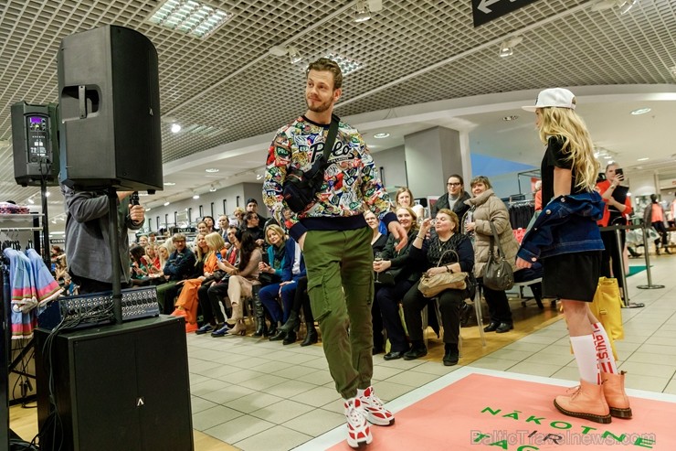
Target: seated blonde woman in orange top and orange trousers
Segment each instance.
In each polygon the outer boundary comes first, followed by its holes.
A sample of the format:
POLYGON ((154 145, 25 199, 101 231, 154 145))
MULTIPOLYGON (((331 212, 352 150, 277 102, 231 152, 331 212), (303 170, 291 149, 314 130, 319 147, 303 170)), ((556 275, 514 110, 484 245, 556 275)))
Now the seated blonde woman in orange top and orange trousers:
POLYGON ((186 332, 197 330, 197 307, 199 306, 197 292, 202 289, 203 282, 207 281, 208 285, 217 277, 215 275, 218 269, 217 253, 220 254, 224 247, 223 239, 217 232, 206 236, 201 233, 197 234, 197 262, 203 262, 203 271, 198 277, 183 281, 181 294, 176 300, 176 309, 172 313, 174 317, 185 317, 186 332))

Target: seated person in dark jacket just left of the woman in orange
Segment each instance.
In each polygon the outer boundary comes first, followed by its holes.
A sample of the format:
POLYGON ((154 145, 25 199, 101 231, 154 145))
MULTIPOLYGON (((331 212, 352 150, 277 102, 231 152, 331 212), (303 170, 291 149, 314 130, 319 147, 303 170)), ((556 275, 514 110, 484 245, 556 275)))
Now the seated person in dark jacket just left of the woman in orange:
POLYGON ((178 293, 176 283, 190 278, 195 271, 196 262, 195 253, 187 248, 183 233, 175 233, 172 237, 172 244, 175 250, 163 268, 164 275, 169 282, 157 287, 157 302, 166 315, 174 311, 174 297, 178 293))

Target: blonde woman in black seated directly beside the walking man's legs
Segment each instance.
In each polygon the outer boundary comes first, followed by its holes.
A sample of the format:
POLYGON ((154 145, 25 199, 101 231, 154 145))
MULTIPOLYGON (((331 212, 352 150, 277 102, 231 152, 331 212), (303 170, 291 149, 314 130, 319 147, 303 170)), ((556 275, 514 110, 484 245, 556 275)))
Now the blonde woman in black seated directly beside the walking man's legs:
MULTIPOLYGON (((375 304, 379 307, 387 338, 392 345, 390 351, 383 357, 385 360, 401 359, 409 349, 406 331, 399 317, 399 301, 421 275, 421 271, 414 271, 413 265, 408 261, 408 252, 418 231, 416 213, 410 207, 399 207, 396 209, 396 219, 407 231, 406 246, 396 251, 398 242, 390 235, 381 253, 382 260, 374 262, 375 274, 378 280, 383 282, 375 284, 375 304)), ((376 333, 374 329, 374 337, 376 333)))

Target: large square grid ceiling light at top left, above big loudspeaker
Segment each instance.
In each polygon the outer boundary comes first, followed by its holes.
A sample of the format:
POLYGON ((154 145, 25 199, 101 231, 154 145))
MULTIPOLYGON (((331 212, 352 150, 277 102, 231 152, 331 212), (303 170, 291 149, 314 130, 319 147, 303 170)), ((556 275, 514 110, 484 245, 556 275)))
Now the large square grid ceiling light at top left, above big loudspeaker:
POLYGON ((166 0, 148 21, 186 35, 206 38, 232 16, 226 11, 195 0, 166 0))

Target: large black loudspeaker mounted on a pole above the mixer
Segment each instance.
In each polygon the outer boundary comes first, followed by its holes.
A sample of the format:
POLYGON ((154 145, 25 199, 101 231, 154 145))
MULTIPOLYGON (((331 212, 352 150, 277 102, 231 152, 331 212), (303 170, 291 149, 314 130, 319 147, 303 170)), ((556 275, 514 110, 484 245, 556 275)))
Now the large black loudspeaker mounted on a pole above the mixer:
POLYGON ((163 188, 157 50, 130 28, 67 36, 58 52, 60 179, 70 188, 163 188))

